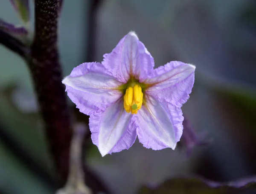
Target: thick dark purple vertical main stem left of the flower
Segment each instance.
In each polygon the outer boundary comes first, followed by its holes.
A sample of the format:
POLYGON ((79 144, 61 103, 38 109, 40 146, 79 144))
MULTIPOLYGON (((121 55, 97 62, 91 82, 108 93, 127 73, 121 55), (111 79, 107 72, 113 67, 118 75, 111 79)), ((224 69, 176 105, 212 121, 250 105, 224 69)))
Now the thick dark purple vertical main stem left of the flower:
POLYGON ((35 0, 35 38, 29 68, 49 148, 63 180, 69 169, 71 124, 57 49, 58 0, 35 0))

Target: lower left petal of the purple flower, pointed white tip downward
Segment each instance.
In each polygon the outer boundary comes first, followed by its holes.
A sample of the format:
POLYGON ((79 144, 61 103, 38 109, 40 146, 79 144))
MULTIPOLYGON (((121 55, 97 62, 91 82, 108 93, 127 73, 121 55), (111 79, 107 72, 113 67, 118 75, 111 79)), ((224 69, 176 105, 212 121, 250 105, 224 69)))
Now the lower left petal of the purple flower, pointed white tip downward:
POLYGON ((98 146, 102 157, 132 146, 136 139, 132 117, 132 114, 124 110, 122 99, 111 104, 105 112, 99 111, 90 115, 92 141, 98 146))

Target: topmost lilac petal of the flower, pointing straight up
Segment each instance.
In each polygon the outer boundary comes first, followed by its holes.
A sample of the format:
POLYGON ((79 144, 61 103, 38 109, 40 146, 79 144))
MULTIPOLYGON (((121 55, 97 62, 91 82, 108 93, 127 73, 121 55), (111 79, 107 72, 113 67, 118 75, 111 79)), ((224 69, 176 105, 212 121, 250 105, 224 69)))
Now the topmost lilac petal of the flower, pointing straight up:
POLYGON ((154 59, 134 32, 123 37, 111 53, 104 55, 102 65, 120 82, 126 83, 131 76, 143 81, 153 70, 154 59))

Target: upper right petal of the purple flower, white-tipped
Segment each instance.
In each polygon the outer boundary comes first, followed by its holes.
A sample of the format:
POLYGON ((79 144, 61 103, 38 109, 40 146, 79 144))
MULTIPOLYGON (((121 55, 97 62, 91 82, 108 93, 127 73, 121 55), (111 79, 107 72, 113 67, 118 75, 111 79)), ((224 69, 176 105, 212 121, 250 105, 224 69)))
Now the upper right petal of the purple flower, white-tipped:
POLYGON ((151 85, 147 94, 181 107, 189 99, 194 81, 194 65, 173 61, 154 69, 144 83, 151 85))

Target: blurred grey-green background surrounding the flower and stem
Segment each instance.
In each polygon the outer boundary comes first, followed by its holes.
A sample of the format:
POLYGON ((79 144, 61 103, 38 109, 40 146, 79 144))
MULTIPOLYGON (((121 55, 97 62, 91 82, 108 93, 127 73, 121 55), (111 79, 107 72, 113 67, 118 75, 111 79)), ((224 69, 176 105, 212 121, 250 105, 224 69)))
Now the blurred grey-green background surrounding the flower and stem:
MULTIPOLYGON (((20 24, 8 0, 0 2, 0 18, 20 24)), ((188 156, 184 142, 174 151, 153 151, 136 141, 129 150, 101 157, 89 137, 88 168, 113 194, 134 194, 187 174, 216 181, 256 174, 256 1, 64 0, 64 76, 82 62, 101 62, 129 31, 156 67, 173 60, 196 65, 195 86, 182 110, 197 141, 208 144, 196 145, 188 156)), ((2 45, 0 67, 0 194, 53 193, 46 174, 55 174, 28 68, 2 45)))

